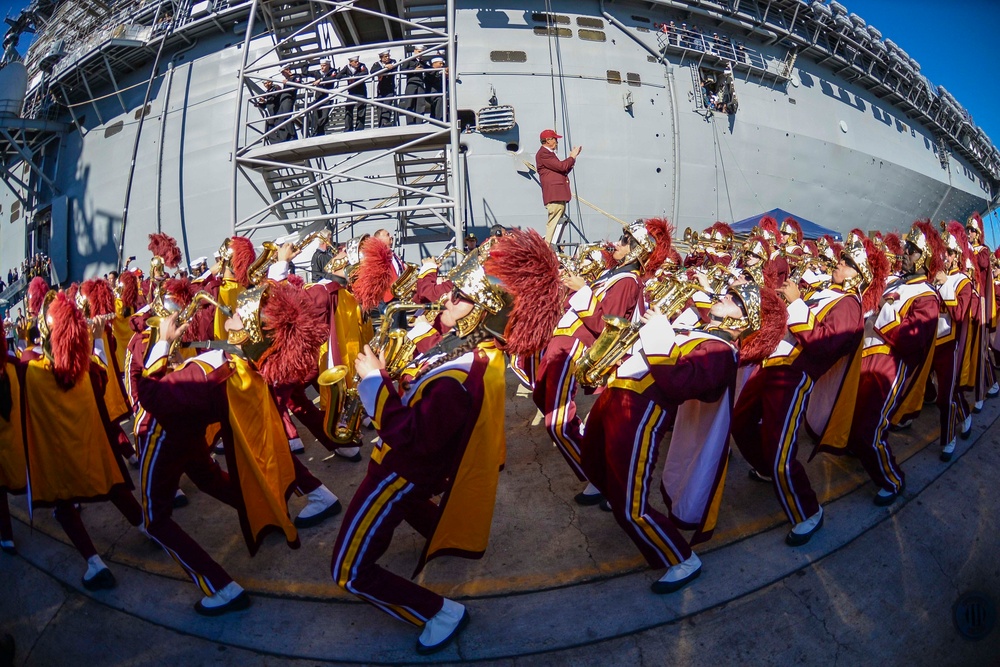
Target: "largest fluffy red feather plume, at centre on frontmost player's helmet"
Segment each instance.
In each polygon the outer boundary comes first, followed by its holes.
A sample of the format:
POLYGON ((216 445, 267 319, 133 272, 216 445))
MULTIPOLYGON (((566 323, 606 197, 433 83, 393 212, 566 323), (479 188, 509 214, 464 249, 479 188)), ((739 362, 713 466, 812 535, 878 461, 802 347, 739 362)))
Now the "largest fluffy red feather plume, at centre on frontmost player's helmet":
POLYGON ((493 246, 484 268, 514 295, 504 350, 518 355, 541 351, 563 314, 564 288, 552 248, 533 229, 512 230, 493 246))

